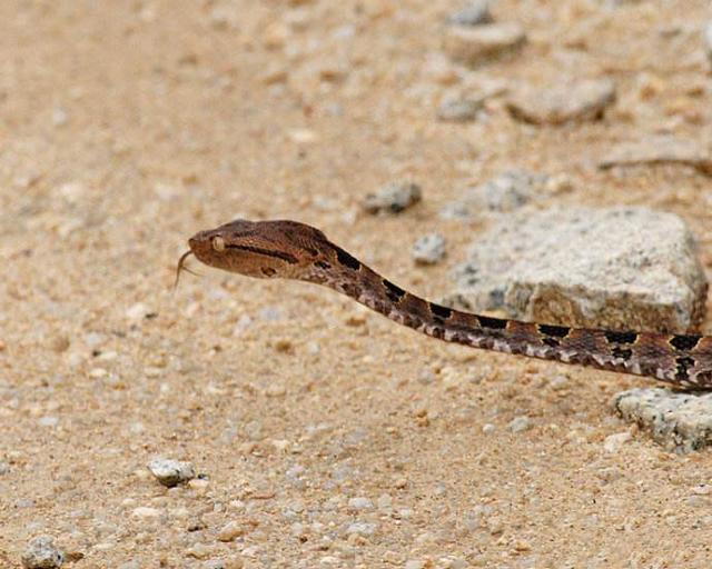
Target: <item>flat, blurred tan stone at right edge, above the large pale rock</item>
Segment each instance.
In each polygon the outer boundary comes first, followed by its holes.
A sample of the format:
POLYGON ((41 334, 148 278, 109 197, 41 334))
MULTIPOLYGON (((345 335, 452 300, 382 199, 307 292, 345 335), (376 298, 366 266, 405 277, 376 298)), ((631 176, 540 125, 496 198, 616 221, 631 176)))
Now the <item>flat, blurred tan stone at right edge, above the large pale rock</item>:
POLYGON ((679 139, 665 134, 646 137, 640 141, 622 142, 599 162, 599 168, 680 164, 712 176, 712 154, 698 140, 679 139))

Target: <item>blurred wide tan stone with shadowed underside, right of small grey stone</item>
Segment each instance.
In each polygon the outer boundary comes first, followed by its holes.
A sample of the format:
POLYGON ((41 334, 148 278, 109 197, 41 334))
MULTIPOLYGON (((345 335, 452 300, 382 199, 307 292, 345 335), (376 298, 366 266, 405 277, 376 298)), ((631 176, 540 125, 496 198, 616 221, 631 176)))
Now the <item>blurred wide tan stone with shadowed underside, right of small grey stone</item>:
POLYGON ((609 79, 566 81, 550 89, 520 89, 507 100, 517 120, 533 124, 563 124, 601 119, 615 101, 615 83, 609 79))

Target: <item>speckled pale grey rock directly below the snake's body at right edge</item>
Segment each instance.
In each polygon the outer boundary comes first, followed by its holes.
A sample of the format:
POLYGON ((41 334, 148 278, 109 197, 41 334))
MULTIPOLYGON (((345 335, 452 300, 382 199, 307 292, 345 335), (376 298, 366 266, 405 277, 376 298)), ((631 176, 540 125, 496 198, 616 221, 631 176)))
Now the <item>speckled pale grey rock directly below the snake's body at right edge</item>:
POLYGON ((712 392, 636 388, 617 393, 612 406, 669 450, 684 453, 712 443, 712 392))

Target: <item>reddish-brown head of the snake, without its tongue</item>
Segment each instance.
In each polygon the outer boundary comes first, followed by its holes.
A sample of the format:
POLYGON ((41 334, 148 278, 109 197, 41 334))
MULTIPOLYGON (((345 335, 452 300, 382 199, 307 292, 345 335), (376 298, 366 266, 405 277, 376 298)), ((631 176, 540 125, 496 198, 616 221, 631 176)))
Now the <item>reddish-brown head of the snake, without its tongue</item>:
POLYGON ((318 229, 297 221, 236 219, 199 231, 188 240, 199 261, 256 278, 299 278, 306 266, 328 251, 318 229))

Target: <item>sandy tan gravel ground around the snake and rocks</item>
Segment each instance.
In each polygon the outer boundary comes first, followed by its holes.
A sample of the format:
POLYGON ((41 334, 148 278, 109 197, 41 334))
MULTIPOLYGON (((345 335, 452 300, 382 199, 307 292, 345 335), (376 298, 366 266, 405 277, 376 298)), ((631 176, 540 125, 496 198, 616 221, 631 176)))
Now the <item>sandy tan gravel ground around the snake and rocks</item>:
POLYGON ((562 127, 502 97, 437 120, 469 77, 439 54, 458 7, 0 2, 1 567, 40 535, 77 569, 710 567, 712 455, 625 440, 611 412, 652 382, 447 346, 195 261, 171 292, 186 239, 241 216, 316 224, 437 298, 486 227, 438 210, 511 168, 570 180, 543 208, 676 212, 710 267, 709 178, 595 167, 660 132, 706 148, 706 2, 496 2, 528 43, 477 80, 615 81, 602 121, 562 127), (403 178, 422 204, 359 210, 403 178), (416 267, 431 231, 447 261, 416 267), (166 489, 157 457, 204 476, 166 489))

